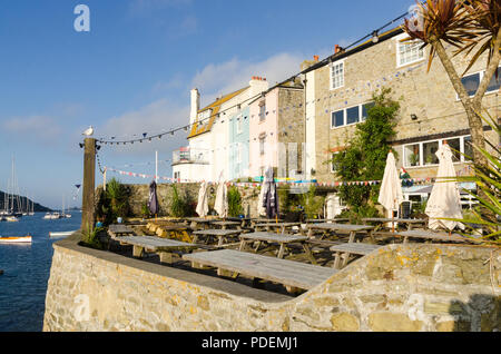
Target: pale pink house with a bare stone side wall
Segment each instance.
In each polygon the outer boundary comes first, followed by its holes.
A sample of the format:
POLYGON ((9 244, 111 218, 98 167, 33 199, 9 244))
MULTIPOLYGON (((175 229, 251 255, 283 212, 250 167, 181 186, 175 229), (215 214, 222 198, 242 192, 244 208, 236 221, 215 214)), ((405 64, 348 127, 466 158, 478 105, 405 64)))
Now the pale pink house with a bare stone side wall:
POLYGON ((250 102, 249 175, 267 167, 278 178, 296 179, 304 170, 304 87, 299 79, 278 83, 250 102))

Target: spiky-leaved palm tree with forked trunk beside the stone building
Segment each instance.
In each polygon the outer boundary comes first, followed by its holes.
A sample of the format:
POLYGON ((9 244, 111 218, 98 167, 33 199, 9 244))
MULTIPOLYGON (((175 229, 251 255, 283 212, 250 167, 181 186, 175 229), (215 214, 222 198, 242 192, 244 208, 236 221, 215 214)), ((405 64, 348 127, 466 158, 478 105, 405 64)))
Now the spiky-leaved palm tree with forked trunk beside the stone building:
MULTIPOLYGON (((410 36, 406 40, 420 39, 423 47, 431 47, 429 67, 433 58, 438 56, 458 92, 466 111, 472 144, 480 149, 474 149, 473 159, 480 165, 488 165, 488 160, 481 149, 485 149, 483 122, 480 116, 482 98, 494 73, 498 75, 500 62, 500 16, 501 0, 426 0, 416 7, 418 17, 405 20, 403 30, 410 36), (452 57, 446 52, 444 43, 455 48, 453 56, 471 55, 471 61, 464 72, 485 52, 488 62, 485 75, 480 82, 474 97, 470 97, 461 77, 452 62, 452 57)), ((463 75, 464 75, 463 72, 463 75)))

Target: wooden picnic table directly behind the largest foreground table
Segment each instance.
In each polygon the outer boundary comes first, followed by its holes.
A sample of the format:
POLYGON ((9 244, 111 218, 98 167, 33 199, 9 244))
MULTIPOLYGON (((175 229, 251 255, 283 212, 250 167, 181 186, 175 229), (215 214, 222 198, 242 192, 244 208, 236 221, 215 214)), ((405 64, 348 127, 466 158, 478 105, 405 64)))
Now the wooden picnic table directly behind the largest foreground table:
POLYGON ((278 258, 284 257, 285 248, 287 248, 289 244, 299 243, 303 246, 303 249, 306 253, 310 262, 312 262, 312 264, 316 264, 312 250, 310 249, 310 246, 306 243, 308 239, 306 236, 284 235, 274 233, 252 233, 252 234, 242 234, 238 237, 240 238, 239 250, 245 250, 246 245, 250 242, 257 242, 257 246, 254 249, 255 253, 257 253, 262 243, 278 244, 279 245, 277 254, 278 258))

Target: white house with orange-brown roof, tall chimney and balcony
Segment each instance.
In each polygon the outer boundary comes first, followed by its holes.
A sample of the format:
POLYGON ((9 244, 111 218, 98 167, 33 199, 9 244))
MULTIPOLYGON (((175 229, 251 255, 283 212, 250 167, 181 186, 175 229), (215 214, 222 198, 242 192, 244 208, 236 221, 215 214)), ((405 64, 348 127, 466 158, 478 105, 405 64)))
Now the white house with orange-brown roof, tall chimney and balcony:
MULTIPOLYGON (((200 94, 193 89, 188 146, 173 153, 173 177, 180 181, 230 180, 235 176, 233 150, 237 142, 245 142, 244 136, 230 135, 234 117, 242 115, 250 99, 267 89, 267 81, 254 77, 247 87, 222 95, 202 109, 200 94)), ((240 168, 246 169, 243 165, 240 168)))

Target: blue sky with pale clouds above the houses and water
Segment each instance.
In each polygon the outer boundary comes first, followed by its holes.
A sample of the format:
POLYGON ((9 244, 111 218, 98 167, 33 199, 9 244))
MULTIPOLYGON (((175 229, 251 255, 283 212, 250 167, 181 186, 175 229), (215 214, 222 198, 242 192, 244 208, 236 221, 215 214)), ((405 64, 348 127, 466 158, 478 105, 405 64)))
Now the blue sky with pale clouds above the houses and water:
MULTIPOLYGON (((202 104, 247 85, 275 82, 402 14, 412 0, 16 0, 0 2, 0 189, 16 159, 21 194, 60 208, 81 183, 78 142, 158 134, 188 122, 189 90, 202 104), (90 32, 77 32, 77 4, 90 32)), ((102 165, 170 176, 178 132, 153 144, 105 146, 102 165), (128 165, 128 166, 127 166, 128 165), (132 165, 132 166, 130 166, 132 165)), ((114 175, 109 174, 109 177, 114 175)), ((97 184, 101 175, 97 173, 97 184)), ((128 179, 124 183, 149 183, 128 179)))

